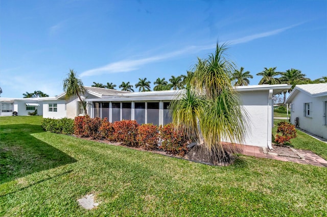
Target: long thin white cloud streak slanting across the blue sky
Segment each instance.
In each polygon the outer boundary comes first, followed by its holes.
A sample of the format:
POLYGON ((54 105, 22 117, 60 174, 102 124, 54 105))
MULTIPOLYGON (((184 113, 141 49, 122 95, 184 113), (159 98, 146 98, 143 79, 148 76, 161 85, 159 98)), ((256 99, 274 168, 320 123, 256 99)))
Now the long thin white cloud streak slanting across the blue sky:
MULTIPOLYGON (((269 31, 269 32, 254 34, 254 35, 245 36, 245 37, 242 37, 239 39, 230 40, 230 41, 228 41, 228 44, 241 44, 241 43, 246 43, 246 42, 253 41, 253 40, 259 39, 259 38, 269 37, 272 35, 282 33, 291 28, 294 28, 295 26, 300 25, 300 24, 302 24, 302 23, 290 25, 285 28, 281 28, 281 29, 277 29, 277 30, 273 30, 273 31, 269 31)), ((100 74, 104 74, 104 73, 118 73, 118 72, 134 71, 134 70, 137 70, 139 67, 149 64, 149 63, 167 60, 167 59, 170 59, 173 57, 184 55, 186 53, 195 53, 195 52, 198 52, 199 50, 213 49, 215 47, 216 47, 216 44, 202 45, 202 46, 188 46, 183 49, 165 53, 165 54, 158 55, 158 56, 153 56, 153 57, 148 57, 148 58, 143 58, 143 59, 138 59, 138 60, 128 60, 128 59, 122 60, 122 61, 118 61, 118 62, 114 62, 114 63, 109 63, 108 65, 105 65, 105 66, 102 66, 99 68, 84 71, 81 73, 80 76, 84 77, 84 76, 100 75, 100 74)))

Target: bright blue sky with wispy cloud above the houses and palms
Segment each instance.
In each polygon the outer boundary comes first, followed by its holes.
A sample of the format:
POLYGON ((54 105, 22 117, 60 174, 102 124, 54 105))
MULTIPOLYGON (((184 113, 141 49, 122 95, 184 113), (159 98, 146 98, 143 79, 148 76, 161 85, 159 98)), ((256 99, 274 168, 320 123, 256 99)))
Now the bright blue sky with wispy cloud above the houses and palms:
POLYGON ((85 86, 146 77, 153 88, 217 41, 251 72, 250 85, 264 67, 327 75, 327 1, 2 0, 0 20, 1 97, 59 95, 69 69, 85 86))

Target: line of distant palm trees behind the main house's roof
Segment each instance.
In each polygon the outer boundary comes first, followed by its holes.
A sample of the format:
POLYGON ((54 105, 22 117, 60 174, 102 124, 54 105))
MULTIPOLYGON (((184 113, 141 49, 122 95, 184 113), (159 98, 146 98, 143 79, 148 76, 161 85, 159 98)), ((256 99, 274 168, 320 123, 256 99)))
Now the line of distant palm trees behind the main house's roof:
MULTIPOLYGON (((264 68, 262 72, 257 73, 256 75, 262 76, 259 85, 276 85, 276 84, 288 84, 292 85, 292 89, 295 85, 300 84, 315 84, 315 83, 327 83, 327 76, 322 76, 321 78, 311 80, 310 78, 306 77, 306 74, 303 74, 298 69, 288 69, 285 72, 278 72, 276 71, 277 67, 271 68, 264 68)), ((155 82, 153 82, 153 90, 154 91, 164 91, 164 90, 181 90, 186 88, 186 84, 190 76, 194 72, 186 71, 186 74, 182 74, 179 76, 172 75, 169 80, 166 80, 165 77, 160 78, 158 77, 155 82)), ((253 75, 249 71, 244 71, 244 67, 240 69, 234 69, 231 73, 231 84, 233 86, 247 86, 250 84, 250 80, 252 79, 253 75)), ((151 91, 151 82, 147 80, 147 78, 138 78, 138 82, 133 86, 130 82, 122 82, 119 88, 122 91, 130 91, 134 92, 134 87, 138 88, 139 92, 151 91)), ((107 88, 107 89, 114 89, 116 85, 112 83, 107 83, 107 85, 103 85, 101 83, 93 82, 92 87, 98 88, 107 88)))

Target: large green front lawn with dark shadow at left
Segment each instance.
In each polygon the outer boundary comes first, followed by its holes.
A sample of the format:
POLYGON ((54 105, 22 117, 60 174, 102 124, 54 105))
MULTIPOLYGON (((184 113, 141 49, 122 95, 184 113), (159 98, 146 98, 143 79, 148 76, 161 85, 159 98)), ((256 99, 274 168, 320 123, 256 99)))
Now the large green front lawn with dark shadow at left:
POLYGON ((44 132, 40 121, 0 117, 2 216, 327 215, 327 168, 248 156, 212 167, 44 132), (98 208, 79 207, 90 193, 98 208))

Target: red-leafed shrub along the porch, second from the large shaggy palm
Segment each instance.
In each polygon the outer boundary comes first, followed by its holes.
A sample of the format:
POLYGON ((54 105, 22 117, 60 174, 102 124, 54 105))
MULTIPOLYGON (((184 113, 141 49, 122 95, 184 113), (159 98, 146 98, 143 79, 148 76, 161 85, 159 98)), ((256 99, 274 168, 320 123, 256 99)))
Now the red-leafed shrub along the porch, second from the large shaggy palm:
POLYGON ((138 126, 138 144, 147 150, 154 150, 158 147, 158 127, 153 124, 142 124, 138 126))

